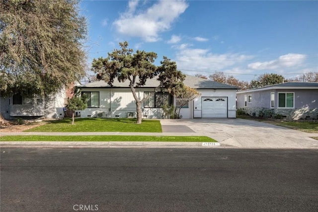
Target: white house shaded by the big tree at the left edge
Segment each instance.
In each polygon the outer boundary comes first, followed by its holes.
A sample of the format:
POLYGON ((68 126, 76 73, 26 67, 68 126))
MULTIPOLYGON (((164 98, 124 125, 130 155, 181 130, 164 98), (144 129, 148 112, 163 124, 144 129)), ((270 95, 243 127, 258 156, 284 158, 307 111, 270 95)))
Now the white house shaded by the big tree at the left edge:
POLYGON ((55 95, 0 97, 0 113, 5 119, 23 118, 63 118, 68 89, 61 89, 55 95))

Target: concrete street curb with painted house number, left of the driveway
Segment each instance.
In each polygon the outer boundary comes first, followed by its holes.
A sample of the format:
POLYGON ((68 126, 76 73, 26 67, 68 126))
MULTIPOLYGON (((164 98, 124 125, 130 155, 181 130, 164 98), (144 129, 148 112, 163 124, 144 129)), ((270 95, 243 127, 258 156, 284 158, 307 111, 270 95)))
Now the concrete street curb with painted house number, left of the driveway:
POLYGON ((35 148, 211 148, 220 147, 219 142, 129 142, 129 141, 1 141, 0 147, 35 148))

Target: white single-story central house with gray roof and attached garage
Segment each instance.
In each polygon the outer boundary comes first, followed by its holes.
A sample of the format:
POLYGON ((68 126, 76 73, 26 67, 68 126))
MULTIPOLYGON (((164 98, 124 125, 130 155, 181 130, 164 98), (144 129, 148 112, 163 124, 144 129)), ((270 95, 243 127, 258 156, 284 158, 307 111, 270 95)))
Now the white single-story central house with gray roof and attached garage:
MULTIPOLYGON (((182 118, 236 117, 238 88, 189 75, 186 75, 184 84, 197 89, 201 97, 181 108, 182 118)), ((88 97, 87 108, 80 112, 80 117, 136 117, 136 101, 128 85, 128 80, 124 83, 115 80, 113 87, 104 81, 78 86, 81 88, 81 94, 88 97)), ((165 102, 176 106, 171 95, 155 92, 158 86, 157 79, 148 79, 145 86, 136 88, 140 99, 152 95, 142 105, 143 118, 164 118, 162 105, 165 102)))

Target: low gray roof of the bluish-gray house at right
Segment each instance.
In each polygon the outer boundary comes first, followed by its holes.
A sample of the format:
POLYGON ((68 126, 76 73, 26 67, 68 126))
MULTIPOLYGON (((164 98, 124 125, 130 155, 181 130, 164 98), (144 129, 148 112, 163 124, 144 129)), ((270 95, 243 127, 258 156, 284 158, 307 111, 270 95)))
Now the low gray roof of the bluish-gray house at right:
POLYGON ((261 88, 249 89, 245 91, 239 91, 238 94, 254 92, 254 91, 265 91, 265 90, 273 90, 273 89, 318 89, 318 83, 311 82, 287 82, 281 83, 271 86, 265 86, 261 88))

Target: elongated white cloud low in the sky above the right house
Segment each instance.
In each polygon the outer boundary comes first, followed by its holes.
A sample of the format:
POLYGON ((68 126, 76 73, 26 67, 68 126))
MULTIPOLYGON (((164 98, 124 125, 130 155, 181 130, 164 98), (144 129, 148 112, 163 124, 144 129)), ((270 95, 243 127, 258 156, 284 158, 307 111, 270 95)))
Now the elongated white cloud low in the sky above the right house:
POLYGON ((286 54, 280 56, 276 60, 266 61, 266 62, 255 62, 247 65, 249 69, 253 70, 274 70, 280 68, 290 68, 295 66, 300 66, 304 63, 306 55, 304 54, 286 54))

